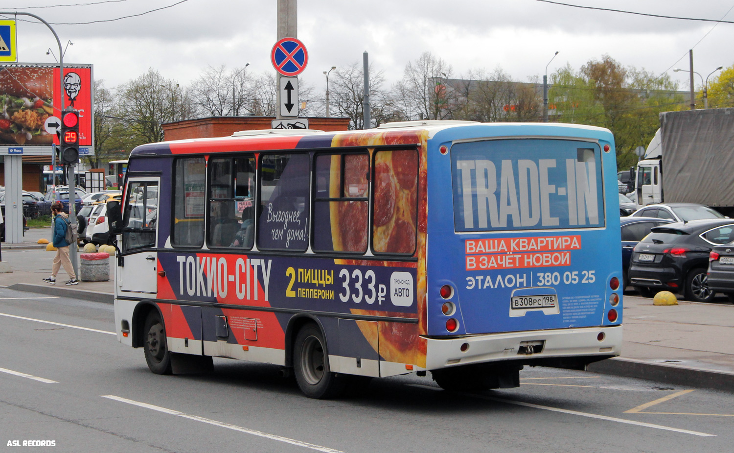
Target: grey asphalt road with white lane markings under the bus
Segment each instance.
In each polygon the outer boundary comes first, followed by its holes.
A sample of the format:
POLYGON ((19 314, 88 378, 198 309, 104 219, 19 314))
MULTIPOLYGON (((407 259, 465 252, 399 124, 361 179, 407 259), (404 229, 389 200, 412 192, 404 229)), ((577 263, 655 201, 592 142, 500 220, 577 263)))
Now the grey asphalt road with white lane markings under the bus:
POLYGON ((0 289, 0 447, 57 452, 731 452, 734 395, 562 369, 520 388, 428 377, 302 396, 276 366, 215 359, 159 376, 117 343, 112 305, 0 289))

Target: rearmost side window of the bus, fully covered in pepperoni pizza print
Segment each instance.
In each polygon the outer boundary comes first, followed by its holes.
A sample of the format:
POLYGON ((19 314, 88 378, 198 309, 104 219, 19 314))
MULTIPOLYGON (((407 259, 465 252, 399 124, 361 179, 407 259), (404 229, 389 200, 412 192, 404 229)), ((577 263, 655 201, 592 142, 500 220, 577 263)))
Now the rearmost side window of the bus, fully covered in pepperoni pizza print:
POLYGON ((376 253, 413 253, 418 211, 418 152, 374 153, 372 248, 376 253))

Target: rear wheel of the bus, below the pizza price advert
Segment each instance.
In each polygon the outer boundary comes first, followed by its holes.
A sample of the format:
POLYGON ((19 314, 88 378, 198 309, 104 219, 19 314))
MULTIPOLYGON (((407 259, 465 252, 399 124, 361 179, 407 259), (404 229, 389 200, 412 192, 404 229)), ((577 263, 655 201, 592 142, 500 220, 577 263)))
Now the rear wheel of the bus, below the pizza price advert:
POLYGON ((349 379, 330 371, 326 341, 319 327, 303 326, 294 344, 293 368, 299 388, 309 398, 329 399, 339 396, 349 379))

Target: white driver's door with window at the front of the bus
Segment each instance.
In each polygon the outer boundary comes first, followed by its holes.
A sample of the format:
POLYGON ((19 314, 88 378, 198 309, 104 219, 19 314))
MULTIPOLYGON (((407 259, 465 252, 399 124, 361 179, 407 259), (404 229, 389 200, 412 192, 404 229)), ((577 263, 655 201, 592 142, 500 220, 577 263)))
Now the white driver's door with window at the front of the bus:
POLYGON ((123 210, 120 291, 155 294, 159 178, 130 178, 123 210))

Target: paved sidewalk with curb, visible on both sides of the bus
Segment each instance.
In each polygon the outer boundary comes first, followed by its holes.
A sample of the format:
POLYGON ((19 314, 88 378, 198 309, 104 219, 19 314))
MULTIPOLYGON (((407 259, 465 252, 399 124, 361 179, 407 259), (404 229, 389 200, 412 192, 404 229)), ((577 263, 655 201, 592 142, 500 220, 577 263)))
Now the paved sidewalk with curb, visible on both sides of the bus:
MULTIPOLYGON (((2 258, 12 273, 0 274, 0 286, 112 303, 114 263, 110 280, 64 286, 59 273, 55 286, 41 281, 51 274, 52 252, 37 245, 48 239, 51 228, 26 231, 23 244, 2 244, 2 258)), ((624 297, 622 356, 588 366, 590 372, 639 377, 675 385, 734 391, 734 305, 678 301, 679 305, 655 306, 652 299, 628 291, 624 297)))

